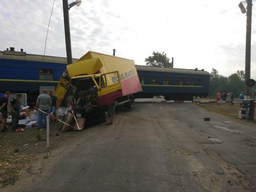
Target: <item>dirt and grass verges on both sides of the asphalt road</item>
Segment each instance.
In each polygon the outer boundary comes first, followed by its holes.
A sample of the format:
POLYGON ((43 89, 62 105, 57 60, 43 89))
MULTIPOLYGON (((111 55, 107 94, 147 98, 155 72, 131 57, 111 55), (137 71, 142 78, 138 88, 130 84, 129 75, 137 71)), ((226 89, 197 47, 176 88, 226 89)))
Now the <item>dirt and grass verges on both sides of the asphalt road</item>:
MULTIPOLYGON (((244 123, 256 124, 256 117, 254 117, 253 122, 238 118, 238 111, 241 109, 239 104, 200 103, 197 105, 244 123)), ((69 147, 74 140, 81 136, 79 131, 61 133, 61 123, 51 123, 50 147, 47 148, 46 129, 39 131, 36 126, 33 126, 31 128, 24 127, 24 132, 11 132, 10 125, 7 127, 8 132, 0 133, 0 188, 13 185, 22 177, 21 170, 30 173, 32 164, 47 159, 54 150, 69 147)))

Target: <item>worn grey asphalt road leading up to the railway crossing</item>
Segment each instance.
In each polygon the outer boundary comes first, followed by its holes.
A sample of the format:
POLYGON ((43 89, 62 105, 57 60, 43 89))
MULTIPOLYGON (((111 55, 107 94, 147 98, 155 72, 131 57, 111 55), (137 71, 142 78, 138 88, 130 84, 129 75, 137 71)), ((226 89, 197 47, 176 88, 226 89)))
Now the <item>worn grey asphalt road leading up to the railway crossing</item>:
MULTIPOLYGON (((46 159, 24 191, 256 191, 256 127, 193 103, 136 103, 46 159), (204 121, 210 118, 210 121, 204 121)), ((15 188, 15 185, 13 186, 15 188)))

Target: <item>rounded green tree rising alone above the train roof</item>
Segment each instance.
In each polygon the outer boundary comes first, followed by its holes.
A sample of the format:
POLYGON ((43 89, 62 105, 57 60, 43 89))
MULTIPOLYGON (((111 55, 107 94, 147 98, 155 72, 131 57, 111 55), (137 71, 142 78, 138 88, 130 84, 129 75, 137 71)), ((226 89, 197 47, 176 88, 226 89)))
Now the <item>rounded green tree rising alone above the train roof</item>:
POLYGON ((173 68, 174 65, 172 62, 169 62, 169 60, 170 59, 166 56, 166 53, 164 52, 153 52, 153 56, 145 58, 147 66, 173 68))

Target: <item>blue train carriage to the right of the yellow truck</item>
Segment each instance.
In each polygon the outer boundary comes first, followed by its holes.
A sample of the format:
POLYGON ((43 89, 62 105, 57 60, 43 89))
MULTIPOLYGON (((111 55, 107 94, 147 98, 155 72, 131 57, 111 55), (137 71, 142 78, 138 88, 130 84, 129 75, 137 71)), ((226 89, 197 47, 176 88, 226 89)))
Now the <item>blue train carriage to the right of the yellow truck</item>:
POLYGON ((136 66, 145 98, 163 95, 170 100, 191 100, 206 97, 209 92, 209 73, 204 70, 136 66))

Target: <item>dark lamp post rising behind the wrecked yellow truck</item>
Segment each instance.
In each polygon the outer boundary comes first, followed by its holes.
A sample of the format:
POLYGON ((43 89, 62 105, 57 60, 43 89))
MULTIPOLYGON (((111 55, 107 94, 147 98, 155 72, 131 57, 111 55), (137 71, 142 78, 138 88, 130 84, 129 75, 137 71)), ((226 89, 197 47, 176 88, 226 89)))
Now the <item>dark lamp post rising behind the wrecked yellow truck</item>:
POLYGON ((79 5, 81 5, 81 3, 82 3, 82 1, 76 0, 75 2, 69 4, 68 0, 62 0, 68 64, 73 62, 72 61, 72 51, 71 51, 70 26, 69 26, 69 9, 75 5, 79 6, 79 5))

